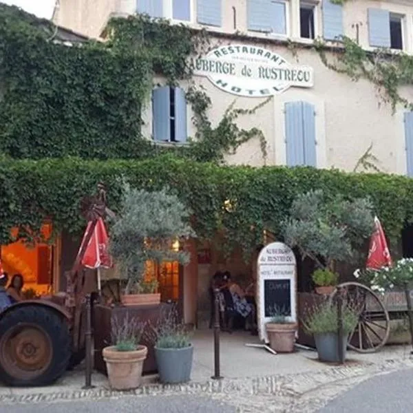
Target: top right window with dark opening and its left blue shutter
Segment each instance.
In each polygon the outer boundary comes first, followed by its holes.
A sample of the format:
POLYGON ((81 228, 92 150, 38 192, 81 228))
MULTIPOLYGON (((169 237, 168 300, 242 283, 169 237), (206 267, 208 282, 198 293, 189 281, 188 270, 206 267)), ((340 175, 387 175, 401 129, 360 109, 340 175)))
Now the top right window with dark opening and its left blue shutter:
POLYGON ((391 47, 403 50, 403 20, 388 10, 368 9, 368 34, 372 47, 391 47))

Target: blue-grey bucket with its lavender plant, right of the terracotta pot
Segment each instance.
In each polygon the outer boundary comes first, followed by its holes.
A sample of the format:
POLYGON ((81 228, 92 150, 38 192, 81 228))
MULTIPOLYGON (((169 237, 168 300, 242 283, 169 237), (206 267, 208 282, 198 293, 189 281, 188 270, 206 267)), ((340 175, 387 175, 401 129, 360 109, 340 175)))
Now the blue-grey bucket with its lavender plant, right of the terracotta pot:
POLYGON ((162 383, 186 383, 191 379, 193 346, 191 332, 173 306, 149 329, 155 345, 156 363, 162 383))

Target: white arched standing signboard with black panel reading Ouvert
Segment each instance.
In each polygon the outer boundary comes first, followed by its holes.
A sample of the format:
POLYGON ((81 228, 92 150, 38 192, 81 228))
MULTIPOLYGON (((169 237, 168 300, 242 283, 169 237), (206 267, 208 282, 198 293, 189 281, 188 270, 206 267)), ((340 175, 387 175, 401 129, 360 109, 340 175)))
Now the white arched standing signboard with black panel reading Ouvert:
POLYGON ((257 260, 257 318, 260 339, 268 343, 265 325, 282 313, 297 322, 297 263, 282 242, 265 246, 257 260))

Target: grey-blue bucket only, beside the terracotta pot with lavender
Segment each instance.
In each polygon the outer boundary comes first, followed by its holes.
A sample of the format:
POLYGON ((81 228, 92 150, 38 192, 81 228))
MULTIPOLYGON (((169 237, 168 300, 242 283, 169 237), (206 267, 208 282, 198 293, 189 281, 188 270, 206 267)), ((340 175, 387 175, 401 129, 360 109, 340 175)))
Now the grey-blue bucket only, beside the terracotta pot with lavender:
POLYGON ((162 383, 185 383, 191 379, 192 344, 185 348, 155 347, 155 356, 162 383))

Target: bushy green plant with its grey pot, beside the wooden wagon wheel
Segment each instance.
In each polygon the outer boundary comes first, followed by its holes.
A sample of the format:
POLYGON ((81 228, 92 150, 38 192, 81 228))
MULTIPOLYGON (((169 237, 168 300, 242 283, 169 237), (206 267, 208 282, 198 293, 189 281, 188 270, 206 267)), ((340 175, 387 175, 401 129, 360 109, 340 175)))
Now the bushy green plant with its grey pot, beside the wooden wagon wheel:
MULTIPOLYGON (((359 320, 357 311, 349 304, 343 304, 343 351, 346 359, 347 340, 350 332, 357 326, 359 320)), ((336 363, 339 361, 339 335, 337 307, 330 301, 324 301, 307 309, 302 321, 308 334, 314 336, 315 346, 320 361, 336 363)))

